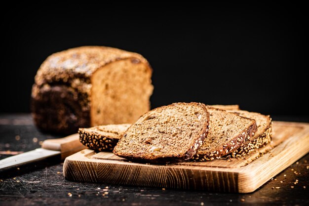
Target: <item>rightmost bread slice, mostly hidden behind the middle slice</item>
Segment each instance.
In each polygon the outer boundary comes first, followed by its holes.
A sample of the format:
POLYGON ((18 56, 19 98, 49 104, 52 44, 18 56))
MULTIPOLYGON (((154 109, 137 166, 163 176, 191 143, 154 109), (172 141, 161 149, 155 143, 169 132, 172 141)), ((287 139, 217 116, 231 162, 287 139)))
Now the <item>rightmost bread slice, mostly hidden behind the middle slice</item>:
POLYGON ((272 131, 272 123, 270 116, 243 110, 228 110, 228 112, 233 112, 242 117, 254 119, 256 120, 256 124, 258 126, 258 130, 254 133, 251 141, 242 143, 238 149, 232 151, 231 157, 241 157, 243 155, 249 154, 254 149, 258 149, 270 143, 272 131))

